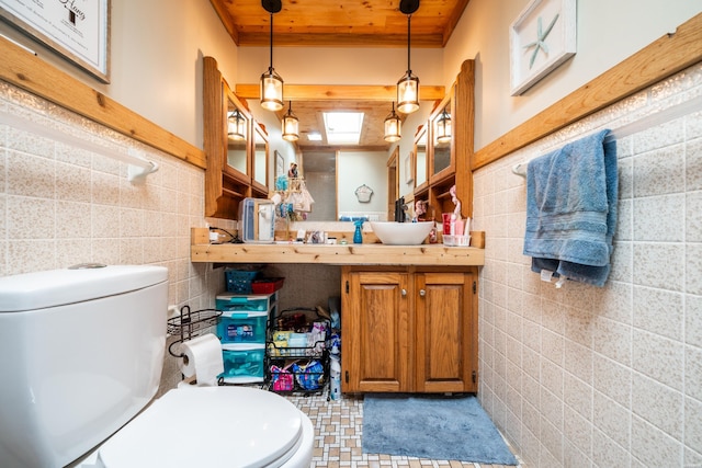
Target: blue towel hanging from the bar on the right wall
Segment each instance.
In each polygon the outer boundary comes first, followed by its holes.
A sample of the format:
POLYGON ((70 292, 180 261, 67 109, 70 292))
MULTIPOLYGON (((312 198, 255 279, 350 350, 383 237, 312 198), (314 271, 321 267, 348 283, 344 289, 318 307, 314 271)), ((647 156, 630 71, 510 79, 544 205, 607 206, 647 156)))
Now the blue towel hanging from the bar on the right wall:
POLYGON ((616 142, 609 130, 529 162, 524 254, 533 272, 603 286, 616 228, 616 142))

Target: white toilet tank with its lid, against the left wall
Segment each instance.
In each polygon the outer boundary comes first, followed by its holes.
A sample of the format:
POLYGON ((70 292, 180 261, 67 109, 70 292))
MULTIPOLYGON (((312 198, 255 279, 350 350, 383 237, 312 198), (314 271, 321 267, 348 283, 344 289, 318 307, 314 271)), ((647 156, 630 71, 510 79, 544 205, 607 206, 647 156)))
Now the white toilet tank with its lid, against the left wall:
POLYGON ((63 467, 156 395, 168 270, 80 265, 0 278, 0 466, 63 467))

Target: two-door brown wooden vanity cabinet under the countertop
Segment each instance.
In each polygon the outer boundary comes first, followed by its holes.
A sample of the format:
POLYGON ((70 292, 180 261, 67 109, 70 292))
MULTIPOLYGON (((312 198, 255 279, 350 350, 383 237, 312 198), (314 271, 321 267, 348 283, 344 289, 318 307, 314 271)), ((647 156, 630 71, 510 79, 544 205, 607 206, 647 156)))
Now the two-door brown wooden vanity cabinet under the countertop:
POLYGON ((344 266, 344 392, 477 391, 477 269, 344 266))

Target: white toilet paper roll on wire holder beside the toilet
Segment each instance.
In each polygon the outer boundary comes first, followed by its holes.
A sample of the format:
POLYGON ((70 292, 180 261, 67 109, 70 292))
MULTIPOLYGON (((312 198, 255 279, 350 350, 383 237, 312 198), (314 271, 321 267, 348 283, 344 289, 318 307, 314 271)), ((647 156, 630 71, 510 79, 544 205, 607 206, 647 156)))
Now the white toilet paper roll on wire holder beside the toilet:
POLYGON ((180 345, 183 357, 179 359, 180 372, 185 377, 195 377, 199 386, 214 386, 224 372, 222 343, 212 333, 203 334, 180 345))

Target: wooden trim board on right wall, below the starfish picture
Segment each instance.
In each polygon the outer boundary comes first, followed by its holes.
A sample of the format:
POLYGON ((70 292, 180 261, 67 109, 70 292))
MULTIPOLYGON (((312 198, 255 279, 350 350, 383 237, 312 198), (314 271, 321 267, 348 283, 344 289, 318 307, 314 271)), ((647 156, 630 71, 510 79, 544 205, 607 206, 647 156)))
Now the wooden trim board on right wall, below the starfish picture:
POLYGON ((702 61, 702 13, 473 155, 476 170, 702 61))

